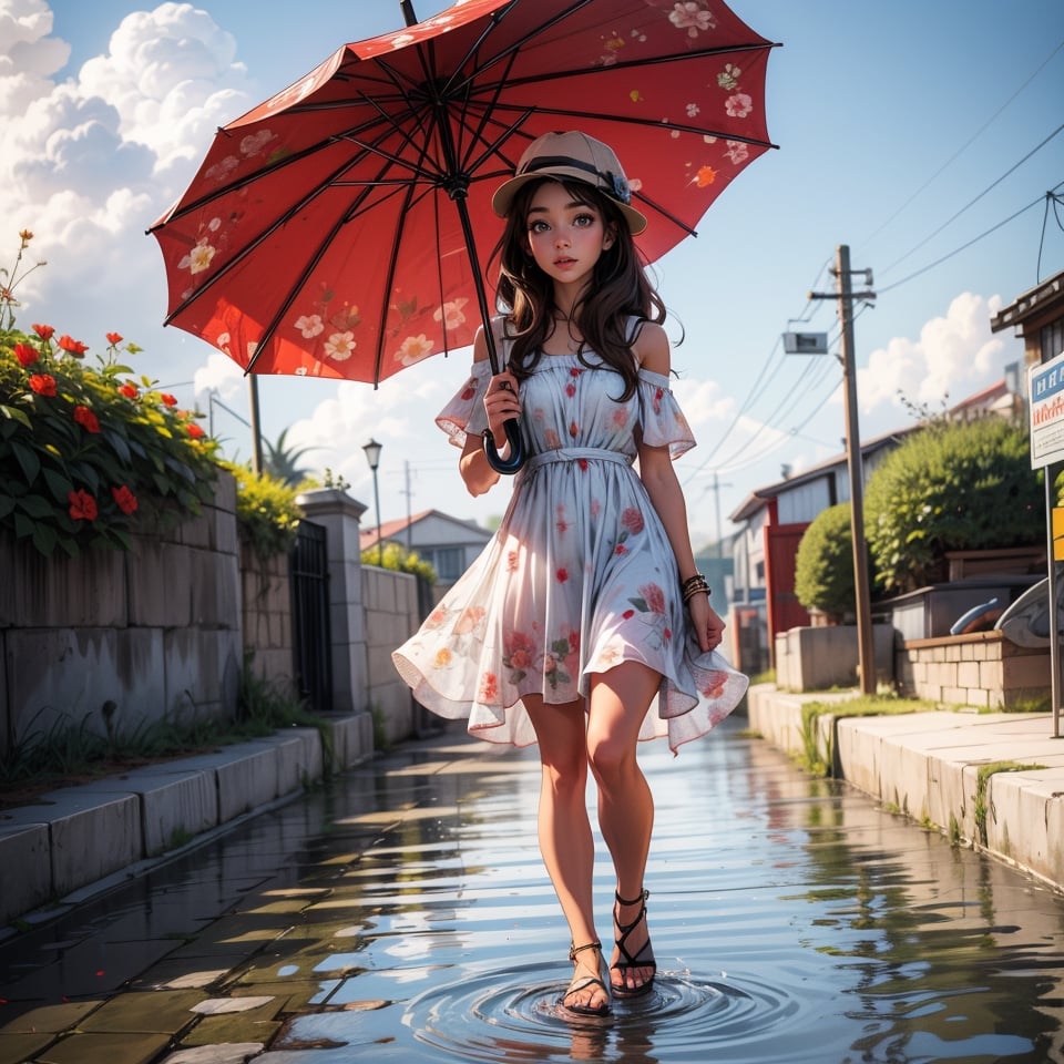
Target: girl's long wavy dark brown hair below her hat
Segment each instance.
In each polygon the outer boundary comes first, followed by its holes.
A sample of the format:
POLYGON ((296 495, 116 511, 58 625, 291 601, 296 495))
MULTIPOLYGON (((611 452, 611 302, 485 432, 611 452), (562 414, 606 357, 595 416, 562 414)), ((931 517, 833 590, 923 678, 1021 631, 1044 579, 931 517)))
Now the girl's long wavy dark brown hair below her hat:
MULTIPOLYGON (((624 391, 617 399, 631 398, 638 381, 638 365, 632 352, 633 336, 628 334, 628 318, 642 321, 665 320, 665 304, 646 277, 643 259, 632 239, 624 215, 613 202, 582 181, 557 181, 577 203, 595 207, 615 238, 595 263, 591 283, 572 309, 583 339, 576 352, 589 369, 586 351, 594 351, 624 381, 624 391)), ((531 376, 543 357, 543 344, 555 327, 554 284, 535 265, 529 252, 529 204, 543 181, 530 181, 513 197, 507 226, 494 250, 499 259, 499 285, 495 294, 498 308, 507 315, 505 335, 513 339, 508 366, 518 380, 531 376)))

